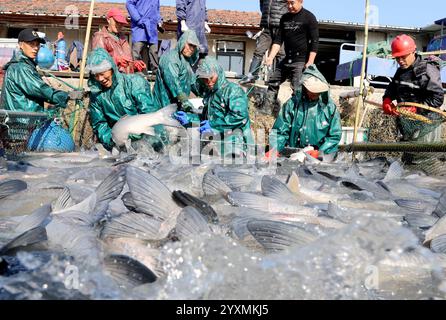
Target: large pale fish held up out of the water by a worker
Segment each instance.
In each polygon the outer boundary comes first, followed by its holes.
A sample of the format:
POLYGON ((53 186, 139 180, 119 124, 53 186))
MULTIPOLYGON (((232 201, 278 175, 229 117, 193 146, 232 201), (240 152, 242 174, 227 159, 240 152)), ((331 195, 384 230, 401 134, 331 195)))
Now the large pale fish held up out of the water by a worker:
POLYGON ((171 104, 153 113, 123 117, 112 128, 113 142, 116 146, 122 147, 131 134, 154 136, 155 129, 153 127, 156 125, 180 128, 180 123, 172 118, 175 111, 177 111, 177 105, 171 104))

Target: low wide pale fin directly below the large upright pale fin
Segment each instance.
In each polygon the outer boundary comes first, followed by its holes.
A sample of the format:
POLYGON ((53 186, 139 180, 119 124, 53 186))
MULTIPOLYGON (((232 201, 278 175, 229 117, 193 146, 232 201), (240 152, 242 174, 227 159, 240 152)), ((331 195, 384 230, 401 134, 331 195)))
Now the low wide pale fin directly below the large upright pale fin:
POLYGON ((136 238, 159 240, 161 221, 146 214, 127 212, 107 221, 101 231, 102 238, 136 238))

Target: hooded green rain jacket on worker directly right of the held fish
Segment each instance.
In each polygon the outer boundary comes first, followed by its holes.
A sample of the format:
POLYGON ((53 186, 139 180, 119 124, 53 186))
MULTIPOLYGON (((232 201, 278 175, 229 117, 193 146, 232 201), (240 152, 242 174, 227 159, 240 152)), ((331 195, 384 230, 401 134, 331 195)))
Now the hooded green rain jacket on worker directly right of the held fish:
POLYGON ((197 80, 195 88, 203 92, 204 108, 201 115, 188 114, 191 123, 199 126, 199 122, 209 120, 214 131, 232 134, 229 139, 226 137, 226 142, 254 143, 245 91, 226 79, 223 68, 214 58, 202 60, 199 70, 217 74, 218 80, 212 90, 204 86, 200 79, 197 80))

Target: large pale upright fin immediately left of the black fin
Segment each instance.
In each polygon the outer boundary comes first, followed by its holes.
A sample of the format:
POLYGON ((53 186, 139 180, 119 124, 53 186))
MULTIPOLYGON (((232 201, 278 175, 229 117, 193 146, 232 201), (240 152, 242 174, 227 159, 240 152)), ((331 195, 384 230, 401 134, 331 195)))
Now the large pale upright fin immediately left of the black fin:
POLYGON ((167 220, 180 207, 172 192, 156 177, 136 167, 127 167, 127 183, 138 212, 167 220))

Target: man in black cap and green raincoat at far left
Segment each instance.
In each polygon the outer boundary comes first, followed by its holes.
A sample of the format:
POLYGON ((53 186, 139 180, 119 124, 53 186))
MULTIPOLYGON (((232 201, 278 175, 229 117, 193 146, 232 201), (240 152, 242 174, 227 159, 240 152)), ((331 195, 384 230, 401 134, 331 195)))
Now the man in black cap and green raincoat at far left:
POLYGON ((5 66, 0 109, 44 112, 44 103, 65 108, 69 99, 81 99, 82 91, 65 92, 46 84, 36 69, 35 58, 45 40, 36 31, 24 29, 18 36, 20 50, 5 66))

